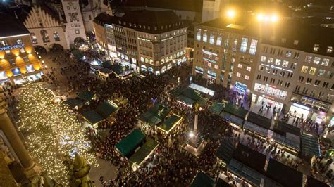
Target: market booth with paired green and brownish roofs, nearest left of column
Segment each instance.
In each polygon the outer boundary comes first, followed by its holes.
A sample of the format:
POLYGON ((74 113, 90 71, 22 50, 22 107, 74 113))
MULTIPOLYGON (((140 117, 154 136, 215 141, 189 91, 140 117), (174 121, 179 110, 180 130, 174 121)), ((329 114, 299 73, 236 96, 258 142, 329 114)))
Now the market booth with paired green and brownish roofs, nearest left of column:
POLYGON ((135 129, 116 144, 116 149, 136 170, 158 146, 159 142, 148 138, 140 129, 135 129))

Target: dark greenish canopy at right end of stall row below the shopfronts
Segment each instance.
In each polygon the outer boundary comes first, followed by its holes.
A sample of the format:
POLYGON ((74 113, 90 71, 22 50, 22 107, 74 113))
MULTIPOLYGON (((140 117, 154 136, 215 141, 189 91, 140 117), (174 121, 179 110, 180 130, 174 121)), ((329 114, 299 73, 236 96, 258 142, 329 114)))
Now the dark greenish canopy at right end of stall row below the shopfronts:
POLYGON ((302 155, 305 157, 320 156, 318 137, 311 134, 302 134, 302 155))

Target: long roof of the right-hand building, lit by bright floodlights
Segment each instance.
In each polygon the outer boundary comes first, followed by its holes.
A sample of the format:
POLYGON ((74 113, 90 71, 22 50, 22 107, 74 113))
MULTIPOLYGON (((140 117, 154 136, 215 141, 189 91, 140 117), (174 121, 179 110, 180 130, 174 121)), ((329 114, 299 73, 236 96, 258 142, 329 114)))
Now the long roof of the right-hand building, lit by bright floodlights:
POLYGON ((259 22, 255 16, 248 15, 233 20, 218 18, 201 25, 258 37, 263 44, 334 56, 334 52, 327 53, 328 46, 334 47, 334 30, 307 22, 283 19, 275 23, 259 22), (314 51, 315 45, 319 46, 318 51, 314 51))

